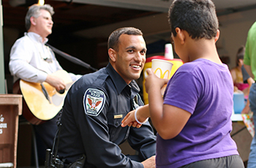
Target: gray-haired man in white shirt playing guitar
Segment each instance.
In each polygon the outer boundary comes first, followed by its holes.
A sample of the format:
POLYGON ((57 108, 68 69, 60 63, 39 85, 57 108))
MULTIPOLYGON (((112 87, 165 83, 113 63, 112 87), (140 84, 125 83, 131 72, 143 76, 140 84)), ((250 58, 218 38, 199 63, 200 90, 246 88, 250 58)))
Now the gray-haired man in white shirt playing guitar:
MULTIPOLYGON (((27 32, 23 37, 17 39, 10 51, 9 68, 14 82, 18 79, 31 83, 46 82, 56 88, 63 90, 66 83, 61 77, 56 77, 53 72, 63 70, 56 60, 53 51, 45 45, 48 35, 52 33, 54 14, 53 7, 49 4, 34 4, 26 13, 25 23, 27 32)), ((81 75, 69 73, 73 81, 78 80, 81 75)), ((43 104, 42 104, 43 105, 43 104)), ((34 125, 37 139, 41 138, 45 148, 42 149, 42 161, 44 161, 46 148, 52 148, 53 139, 57 130, 58 115, 50 121, 34 125)), ((40 144, 37 145, 41 146, 40 144)), ((39 154, 40 156, 40 154, 39 154)))

